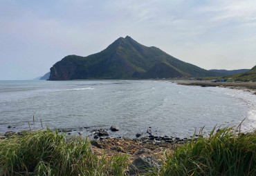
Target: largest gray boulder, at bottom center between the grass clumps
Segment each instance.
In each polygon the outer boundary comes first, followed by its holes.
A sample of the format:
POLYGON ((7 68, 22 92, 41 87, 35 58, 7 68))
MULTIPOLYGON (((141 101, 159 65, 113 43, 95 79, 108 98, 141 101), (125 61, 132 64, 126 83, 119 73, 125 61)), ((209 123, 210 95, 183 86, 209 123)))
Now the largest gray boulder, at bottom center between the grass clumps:
POLYGON ((147 173, 147 170, 156 168, 159 170, 159 164, 152 157, 138 157, 129 165, 129 175, 147 173))

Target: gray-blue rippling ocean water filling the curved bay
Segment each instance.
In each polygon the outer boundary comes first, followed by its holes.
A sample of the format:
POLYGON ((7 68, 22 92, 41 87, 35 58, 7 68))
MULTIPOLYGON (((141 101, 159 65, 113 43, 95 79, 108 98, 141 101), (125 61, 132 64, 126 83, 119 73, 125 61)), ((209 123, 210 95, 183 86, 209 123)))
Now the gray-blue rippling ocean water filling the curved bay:
POLYGON ((256 96, 242 90, 180 86, 172 81, 0 81, 0 133, 71 128, 73 134, 120 127, 117 137, 188 137, 205 126, 256 128, 256 96), (33 124, 33 115, 35 124, 33 124), (11 128, 8 128, 11 126, 11 128), (84 128, 86 127, 86 128, 84 128))

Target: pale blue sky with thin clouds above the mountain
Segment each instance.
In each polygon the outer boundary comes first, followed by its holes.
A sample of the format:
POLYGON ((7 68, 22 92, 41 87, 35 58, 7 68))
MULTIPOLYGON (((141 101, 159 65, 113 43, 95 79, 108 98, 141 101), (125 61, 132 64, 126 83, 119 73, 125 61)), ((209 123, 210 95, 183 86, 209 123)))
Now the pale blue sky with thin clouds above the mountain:
POLYGON ((253 68, 256 1, 0 0, 0 80, 42 76, 127 35, 207 70, 253 68))

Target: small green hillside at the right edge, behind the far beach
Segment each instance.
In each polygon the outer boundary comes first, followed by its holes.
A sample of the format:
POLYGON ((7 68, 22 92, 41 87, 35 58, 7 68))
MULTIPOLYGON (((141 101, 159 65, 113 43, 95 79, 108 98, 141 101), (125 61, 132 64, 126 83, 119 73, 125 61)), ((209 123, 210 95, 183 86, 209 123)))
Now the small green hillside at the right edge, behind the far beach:
POLYGON ((248 72, 231 75, 226 78, 232 78, 235 81, 256 81, 256 66, 250 69, 248 72))

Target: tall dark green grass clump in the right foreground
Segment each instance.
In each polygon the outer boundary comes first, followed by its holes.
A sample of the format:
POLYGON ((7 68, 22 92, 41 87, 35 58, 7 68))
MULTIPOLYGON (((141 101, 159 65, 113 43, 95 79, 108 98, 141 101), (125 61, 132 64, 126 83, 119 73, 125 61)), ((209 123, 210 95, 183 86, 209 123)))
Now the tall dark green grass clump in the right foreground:
POLYGON ((256 175, 256 131, 246 135, 234 128, 214 131, 166 154, 161 170, 153 175, 256 175))

